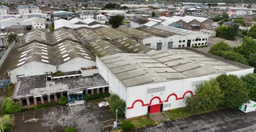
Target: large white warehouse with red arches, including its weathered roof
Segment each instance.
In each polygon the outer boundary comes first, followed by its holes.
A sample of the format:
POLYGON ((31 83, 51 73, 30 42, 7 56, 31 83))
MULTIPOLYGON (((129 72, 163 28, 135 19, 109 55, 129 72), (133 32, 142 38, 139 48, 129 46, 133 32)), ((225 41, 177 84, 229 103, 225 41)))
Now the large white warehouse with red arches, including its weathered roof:
POLYGON ((222 73, 241 76, 254 71, 188 47, 96 57, 96 65, 109 92, 126 102, 126 118, 184 107, 184 99, 194 96, 203 81, 222 73))

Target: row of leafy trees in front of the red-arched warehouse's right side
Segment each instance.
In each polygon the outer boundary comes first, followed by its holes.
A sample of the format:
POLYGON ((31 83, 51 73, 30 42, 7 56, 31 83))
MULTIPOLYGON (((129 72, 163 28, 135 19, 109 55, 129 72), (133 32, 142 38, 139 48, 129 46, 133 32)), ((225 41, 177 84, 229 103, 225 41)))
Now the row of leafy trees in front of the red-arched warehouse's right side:
POLYGON ((186 98, 186 106, 193 110, 212 110, 218 107, 237 108, 249 99, 256 100, 256 74, 241 78, 219 75, 196 86, 196 96, 186 98))

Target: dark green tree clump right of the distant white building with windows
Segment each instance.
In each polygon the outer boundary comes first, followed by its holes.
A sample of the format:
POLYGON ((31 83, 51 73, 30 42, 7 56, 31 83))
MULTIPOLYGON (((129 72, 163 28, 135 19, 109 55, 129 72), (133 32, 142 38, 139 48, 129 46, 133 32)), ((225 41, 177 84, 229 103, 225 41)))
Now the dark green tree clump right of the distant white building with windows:
POLYGON ((239 32, 239 26, 236 24, 229 27, 221 25, 216 29, 216 32, 217 37, 227 40, 235 40, 235 36, 237 36, 239 32))

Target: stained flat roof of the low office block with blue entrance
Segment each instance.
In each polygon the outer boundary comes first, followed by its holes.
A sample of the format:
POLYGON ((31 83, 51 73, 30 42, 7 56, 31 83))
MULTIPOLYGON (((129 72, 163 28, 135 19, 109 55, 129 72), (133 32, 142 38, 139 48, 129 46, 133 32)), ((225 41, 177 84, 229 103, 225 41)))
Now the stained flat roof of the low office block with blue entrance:
POLYGON ((41 97, 64 91, 71 93, 101 86, 107 87, 108 83, 100 75, 48 82, 44 81, 43 75, 20 77, 12 98, 41 97))

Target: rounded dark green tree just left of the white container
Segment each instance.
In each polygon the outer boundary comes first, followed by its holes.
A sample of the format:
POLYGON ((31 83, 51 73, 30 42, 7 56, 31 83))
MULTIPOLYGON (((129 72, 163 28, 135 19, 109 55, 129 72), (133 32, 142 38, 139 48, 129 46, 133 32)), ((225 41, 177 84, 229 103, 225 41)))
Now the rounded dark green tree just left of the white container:
POLYGON ((242 103, 248 101, 249 92, 246 83, 236 75, 222 74, 216 78, 224 97, 222 106, 237 108, 242 103))

